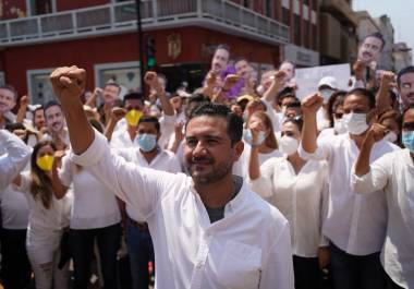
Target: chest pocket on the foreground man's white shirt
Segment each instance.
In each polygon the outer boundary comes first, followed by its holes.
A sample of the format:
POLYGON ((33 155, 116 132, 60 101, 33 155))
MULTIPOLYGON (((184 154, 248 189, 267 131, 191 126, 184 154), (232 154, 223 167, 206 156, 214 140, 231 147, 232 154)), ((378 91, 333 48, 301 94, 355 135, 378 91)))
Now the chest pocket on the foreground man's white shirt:
POLYGON ((261 249, 228 241, 220 258, 217 277, 227 289, 258 288, 261 249))

